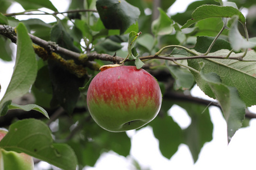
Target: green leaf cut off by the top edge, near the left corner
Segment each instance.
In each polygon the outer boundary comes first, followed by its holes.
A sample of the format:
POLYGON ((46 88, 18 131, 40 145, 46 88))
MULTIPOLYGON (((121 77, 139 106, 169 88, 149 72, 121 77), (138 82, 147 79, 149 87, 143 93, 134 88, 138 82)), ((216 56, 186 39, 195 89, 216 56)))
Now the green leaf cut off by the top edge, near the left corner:
POLYGON ((38 8, 46 7, 50 10, 57 11, 55 6, 52 5, 52 2, 49 0, 16 0, 25 10, 34 10, 38 8))

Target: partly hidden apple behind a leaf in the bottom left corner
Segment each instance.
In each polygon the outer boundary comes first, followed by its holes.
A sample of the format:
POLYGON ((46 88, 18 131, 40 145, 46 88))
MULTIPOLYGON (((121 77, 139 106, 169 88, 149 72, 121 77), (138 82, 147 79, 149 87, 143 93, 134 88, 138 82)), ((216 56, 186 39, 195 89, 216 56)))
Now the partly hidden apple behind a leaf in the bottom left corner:
MULTIPOLYGON (((0 129, 0 141, 8 131, 0 129)), ((34 161, 31 156, 0 148, 0 170, 32 170, 34 161)))

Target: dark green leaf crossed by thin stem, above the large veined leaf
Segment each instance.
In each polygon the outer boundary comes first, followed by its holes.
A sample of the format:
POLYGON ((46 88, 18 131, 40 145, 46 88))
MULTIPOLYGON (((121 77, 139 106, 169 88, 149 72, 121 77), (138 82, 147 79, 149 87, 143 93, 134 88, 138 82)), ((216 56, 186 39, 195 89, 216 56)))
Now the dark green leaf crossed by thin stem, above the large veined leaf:
MULTIPOLYGON (((197 36, 196 37, 196 45, 194 49, 197 52, 205 53, 207 52, 210 44, 212 44, 212 41, 214 40, 214 37, 207 37, 207 36, 197 36)), ((212 46, 212 49, 210 50, 210 53, 216 52, 217 50, 221 49, 229 49, 231 50, 231 46, 228 41, 217 39, 217 41, 212 46)))

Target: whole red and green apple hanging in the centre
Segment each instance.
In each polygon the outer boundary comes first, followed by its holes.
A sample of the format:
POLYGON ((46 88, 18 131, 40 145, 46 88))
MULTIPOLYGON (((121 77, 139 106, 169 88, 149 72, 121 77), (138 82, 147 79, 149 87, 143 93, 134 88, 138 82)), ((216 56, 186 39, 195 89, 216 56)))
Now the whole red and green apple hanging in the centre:
POLYGON ((135 66, 111 67, 90 82, 87 105, 93 120, 101 128, 127 131, 152 121, 162 104, 156 79, 135 66))

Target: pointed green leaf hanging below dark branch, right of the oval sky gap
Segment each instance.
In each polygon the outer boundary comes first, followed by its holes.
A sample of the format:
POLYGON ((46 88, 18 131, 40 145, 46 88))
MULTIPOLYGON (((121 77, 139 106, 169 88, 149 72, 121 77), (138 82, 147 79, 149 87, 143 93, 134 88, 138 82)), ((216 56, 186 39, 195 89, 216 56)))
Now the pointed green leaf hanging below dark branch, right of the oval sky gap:
POLYGON ((209 109, 205 105, 193 103, 177 103, 177 105, 184 108, 191 117, 191 125, 184 130, 184 138, 196 162, 204 143, 212 141, 213 124, 209 109))

